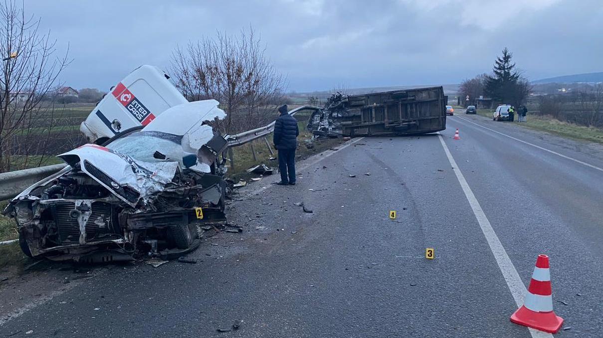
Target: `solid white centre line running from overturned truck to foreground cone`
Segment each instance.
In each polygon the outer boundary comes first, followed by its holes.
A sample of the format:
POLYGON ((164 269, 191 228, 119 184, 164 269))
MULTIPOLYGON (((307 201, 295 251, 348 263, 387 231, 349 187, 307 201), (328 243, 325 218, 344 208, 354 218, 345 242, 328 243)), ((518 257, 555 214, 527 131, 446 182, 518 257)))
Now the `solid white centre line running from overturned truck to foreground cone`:
MULTIPOLYGON (((502 246, 502 243, 500 243, 498 236, 496 236, 496 233, 494 232, 490 221, 488 221, 484 210, 482 210, 481 205, 479 205, 478 199, 475 198, 475 195, 473 195, 473 191, 469 187, 469 184, 467 184, 463 173, 459 169, 458 165, 456 165, 456 161, 452 157, 452 154, 450 154, 446 143, 444 143, 444 137, 441 134, 439 134, 438 137, 442 147, 444 148, 444 152, 446 152, 446 157, 448 157, 450 166, 453 168, 452 171, 454 171, 456 178, 458 179, 458 183, 461 184, 461 188, 463 188, 467 201, 469 201, 469 205, 471 205, 473 214, 475 214, 475 218, 478 220, 479 227, 482 229, 482 233, 484 233, 484 236, 486 237, 486 241, 490 246, 494 259, 496 259, 500 272, 502 272, 502 276, 507 282, 511 295, 513 295, 513 299, 515 300, 517 307, 520 307, 523 305, 523 299, 528 290, 523 284, 522 279, 519 277, 519 274, 517 274, 517 270, 515 269, 511 258, 509 258, 509 255, 507 255, 507 251, 505 251, 505 248, 502 246)), ((509 316, 511 316, 511 313, 509 313, 509 316)), ((531 328, 529 328, 529 332, 532 337, 552 337, 551 334, 533 330, 531 328)))

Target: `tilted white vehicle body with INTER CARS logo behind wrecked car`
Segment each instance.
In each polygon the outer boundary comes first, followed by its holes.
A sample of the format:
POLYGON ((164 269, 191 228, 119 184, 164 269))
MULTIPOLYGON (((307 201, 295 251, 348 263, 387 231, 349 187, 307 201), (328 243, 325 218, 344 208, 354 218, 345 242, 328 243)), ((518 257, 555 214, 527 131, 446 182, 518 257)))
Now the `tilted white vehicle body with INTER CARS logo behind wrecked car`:
POLYGON ((140 66, 98 102, 81 122, 88 142, 101 144, 133 127, 147 125, 166 109, 188 102, 155 66, 140 66))

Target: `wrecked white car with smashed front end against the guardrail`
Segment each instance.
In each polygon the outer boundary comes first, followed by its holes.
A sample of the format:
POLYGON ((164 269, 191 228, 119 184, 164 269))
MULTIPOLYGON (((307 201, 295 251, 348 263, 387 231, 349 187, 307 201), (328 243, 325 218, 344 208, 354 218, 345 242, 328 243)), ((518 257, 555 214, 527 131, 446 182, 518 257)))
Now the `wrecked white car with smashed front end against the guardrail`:
POLYGON ((223 222, 227 141, 208 122, 218 101, 168 108, 103 145, 58 155, 69 166, 14 198, 25 254, 102 262, 169 257, 198 246, 201 222, 223 222))

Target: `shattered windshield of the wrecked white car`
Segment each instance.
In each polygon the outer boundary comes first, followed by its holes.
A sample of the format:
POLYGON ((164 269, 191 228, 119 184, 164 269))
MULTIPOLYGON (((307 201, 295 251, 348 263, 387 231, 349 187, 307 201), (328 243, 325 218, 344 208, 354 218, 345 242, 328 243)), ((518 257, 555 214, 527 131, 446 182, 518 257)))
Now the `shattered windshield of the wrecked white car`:
POLYGON ((161 131, 137 131, 111 142, 107 148, 145 162, 178 161, 182 164, 184 155, 182 136, 161 131))

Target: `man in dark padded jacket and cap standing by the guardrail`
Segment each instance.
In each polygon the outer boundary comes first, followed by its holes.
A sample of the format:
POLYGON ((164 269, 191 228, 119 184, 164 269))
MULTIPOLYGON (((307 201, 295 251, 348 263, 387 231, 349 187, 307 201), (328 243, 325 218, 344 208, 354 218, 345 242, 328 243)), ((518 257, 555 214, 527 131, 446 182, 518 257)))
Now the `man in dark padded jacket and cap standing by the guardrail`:
POLYGON ((295 117, 289 115, 287 105, 279 107, 279 118, 274 123, 274 147, 279 151, 280 186, 295 185, 295 148, 300 134, 295 117), (289 175, 287 177, 287 175, 289 175))

